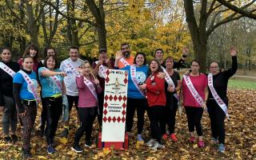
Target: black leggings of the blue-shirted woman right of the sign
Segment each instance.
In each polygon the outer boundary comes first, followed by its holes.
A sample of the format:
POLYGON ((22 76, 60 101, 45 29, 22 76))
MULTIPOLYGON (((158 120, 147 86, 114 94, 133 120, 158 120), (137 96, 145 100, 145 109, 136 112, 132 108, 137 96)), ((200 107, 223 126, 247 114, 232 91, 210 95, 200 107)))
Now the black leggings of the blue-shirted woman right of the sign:
POLYGON ((128 98, 127 99, 127 108, 126 108, 126 131, 130 132, 133 124, 134 124, 134 114, 135 110, 137 110, 137 129, 138 134, 142 134, 143 126, 144 126, 144 114, 145 114, 145 106, 146 99, 136 99, 136 98, 128 98))

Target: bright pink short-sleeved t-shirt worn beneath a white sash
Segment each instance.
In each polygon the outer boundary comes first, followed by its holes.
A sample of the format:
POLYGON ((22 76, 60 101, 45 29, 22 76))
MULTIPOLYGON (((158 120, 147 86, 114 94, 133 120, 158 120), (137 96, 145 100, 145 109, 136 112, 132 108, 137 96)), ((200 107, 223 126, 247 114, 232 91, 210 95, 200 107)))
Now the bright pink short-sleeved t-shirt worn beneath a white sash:
MULTIPOLYGON (((205 74, 200 74, 196 77, 190 76, 190 80, 194 86, 194 89, 198 91, 198 94, 205 100, 205 89, 207 87, 207 77, 205 74)), ((186 82, 182 79, 183 90, 183 106, 195 106, 201 107, 191 94, 190 89, 186 86, 186 82)))

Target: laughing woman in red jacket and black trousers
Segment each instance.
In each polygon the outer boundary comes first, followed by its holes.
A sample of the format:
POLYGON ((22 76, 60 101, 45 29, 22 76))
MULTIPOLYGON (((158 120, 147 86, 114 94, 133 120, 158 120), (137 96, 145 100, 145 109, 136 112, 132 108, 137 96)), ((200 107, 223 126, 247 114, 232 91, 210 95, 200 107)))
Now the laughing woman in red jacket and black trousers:
POLYGON ((152 146, 153 150, 163 148, 160 122, 164 115, 166 106, 165 79, 158 78, 161 66, 157 59, 150 62, 149 77, 146 83, 140 85, 141 90, 146 90, 147 102, 149 105, 148 115, 150 118, 151 139, 147 146, 152 146))

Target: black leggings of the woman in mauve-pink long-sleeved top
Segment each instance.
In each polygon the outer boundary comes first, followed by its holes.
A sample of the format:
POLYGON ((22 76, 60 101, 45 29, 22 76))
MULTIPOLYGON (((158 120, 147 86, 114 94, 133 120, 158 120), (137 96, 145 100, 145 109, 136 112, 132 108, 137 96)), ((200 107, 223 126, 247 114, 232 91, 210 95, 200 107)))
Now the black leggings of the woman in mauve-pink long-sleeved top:
POLYGON ((90 141, 93 129, 94 119, 96 118, 98 107, 78 107, 78 114, 81 126, 78 128, 74 136, 74 145, 78 145, 82 134, 86 131, 86 141, 90 141))

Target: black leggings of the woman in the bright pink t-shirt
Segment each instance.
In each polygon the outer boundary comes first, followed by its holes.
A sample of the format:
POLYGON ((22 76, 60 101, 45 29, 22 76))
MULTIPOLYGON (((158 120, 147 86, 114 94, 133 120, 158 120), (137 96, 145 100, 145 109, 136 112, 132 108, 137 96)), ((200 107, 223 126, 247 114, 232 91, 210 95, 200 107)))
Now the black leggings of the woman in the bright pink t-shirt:
POLYGON ((194 107, 194 106, 185 106, 186 110, 186 118, 189 126, 190 132, 194 132, 194 127, 197 130, 198 136, 202 136, 202 107, 194 107))

